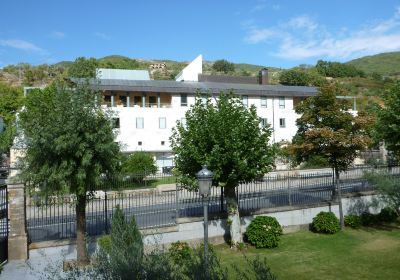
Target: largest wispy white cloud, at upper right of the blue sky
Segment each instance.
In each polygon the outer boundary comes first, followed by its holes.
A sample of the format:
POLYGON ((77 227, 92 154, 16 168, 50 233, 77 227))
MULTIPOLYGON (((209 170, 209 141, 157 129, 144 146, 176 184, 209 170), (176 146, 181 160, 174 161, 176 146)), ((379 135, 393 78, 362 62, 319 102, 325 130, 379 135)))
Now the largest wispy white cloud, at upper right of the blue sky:
POLYGON ((300 60, 329 57, 338 60, 400 50, 400 7, 394 15, 349 31, 343 27, 328 32, 327 27, 308 16, 298 16, 269 28, 254 24, 247 29, 244 41, 249 44, 275 43, 272 54, 284 59, 300 60))

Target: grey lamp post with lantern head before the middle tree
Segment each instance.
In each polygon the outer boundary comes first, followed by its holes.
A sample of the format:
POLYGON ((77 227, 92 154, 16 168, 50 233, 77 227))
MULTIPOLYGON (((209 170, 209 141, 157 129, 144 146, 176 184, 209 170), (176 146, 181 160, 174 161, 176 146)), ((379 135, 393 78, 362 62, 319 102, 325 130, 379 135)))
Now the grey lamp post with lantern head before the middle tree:
POLYGON ((203 209, 204 209, 204 265, 207 274, 208 268, 208 201, 207 198, 210 195, 211 184, 213 173, 207 169, 206 165, 203 165, 203 169, 197 172, 196 177, 199 182, 199 193, 203 198, 203 209))

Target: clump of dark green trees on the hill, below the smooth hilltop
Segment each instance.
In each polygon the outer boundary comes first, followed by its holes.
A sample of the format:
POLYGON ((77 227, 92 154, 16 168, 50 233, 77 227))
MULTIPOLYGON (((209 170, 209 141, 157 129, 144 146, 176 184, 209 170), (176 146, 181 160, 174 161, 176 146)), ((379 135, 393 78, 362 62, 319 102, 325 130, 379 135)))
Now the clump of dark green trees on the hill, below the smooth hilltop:
POLYGON ((350 64, 318 60, 315 66, 318 73, 326 77, 364 77, 365 73, 350 64))

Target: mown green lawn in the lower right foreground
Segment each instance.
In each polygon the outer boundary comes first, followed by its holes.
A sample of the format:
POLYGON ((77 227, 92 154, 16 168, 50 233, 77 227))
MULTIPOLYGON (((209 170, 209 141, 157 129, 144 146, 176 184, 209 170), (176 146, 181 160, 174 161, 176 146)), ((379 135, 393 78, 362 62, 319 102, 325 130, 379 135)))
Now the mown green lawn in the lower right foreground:
MULTIPOLYGON (((228 268, 243 266, 242 252, 216 247, 228 268)), ((278 279, 400 279, 400 229, 346 229, 335 235, 298 232, 282 236, 279 248, 243 252, 267 257, 278 279)), ((231 272, 232 270, 230 270, 231 272)))

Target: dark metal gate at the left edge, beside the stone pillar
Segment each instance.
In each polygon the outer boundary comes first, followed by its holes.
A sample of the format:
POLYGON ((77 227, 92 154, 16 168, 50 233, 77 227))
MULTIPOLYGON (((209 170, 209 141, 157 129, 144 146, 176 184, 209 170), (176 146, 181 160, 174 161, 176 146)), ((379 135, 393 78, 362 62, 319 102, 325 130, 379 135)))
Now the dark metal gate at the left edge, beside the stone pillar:
POLYGON ((0 264, 8 255, 8 197, 7 186, 0 186, 0 264))

